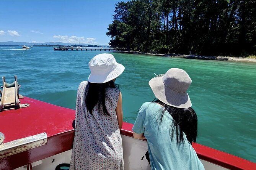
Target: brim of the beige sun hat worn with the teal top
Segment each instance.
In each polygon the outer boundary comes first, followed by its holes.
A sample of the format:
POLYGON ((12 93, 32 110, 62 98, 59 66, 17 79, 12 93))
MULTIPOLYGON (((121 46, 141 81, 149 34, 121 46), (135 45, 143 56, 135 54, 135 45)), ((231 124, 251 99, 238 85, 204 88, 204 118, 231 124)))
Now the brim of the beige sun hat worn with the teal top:
POLYGON ((163 76, 154 77, 148 84, 156 98, 163 103, 178 108, 188 108, 192 106, 188 93, 179 93, 166 87, 163 82, 163 76))

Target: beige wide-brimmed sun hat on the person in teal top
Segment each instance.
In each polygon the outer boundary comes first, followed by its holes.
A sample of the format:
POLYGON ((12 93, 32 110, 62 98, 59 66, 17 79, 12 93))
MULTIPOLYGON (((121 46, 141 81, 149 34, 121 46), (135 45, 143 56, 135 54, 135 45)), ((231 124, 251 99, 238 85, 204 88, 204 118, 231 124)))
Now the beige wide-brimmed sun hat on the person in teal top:
POLYGON ((187 90, 192 80, 183 69, 171 68, 164 75, 154 77, 148 84, 163 103, 178 108, 191 107, 187 90))

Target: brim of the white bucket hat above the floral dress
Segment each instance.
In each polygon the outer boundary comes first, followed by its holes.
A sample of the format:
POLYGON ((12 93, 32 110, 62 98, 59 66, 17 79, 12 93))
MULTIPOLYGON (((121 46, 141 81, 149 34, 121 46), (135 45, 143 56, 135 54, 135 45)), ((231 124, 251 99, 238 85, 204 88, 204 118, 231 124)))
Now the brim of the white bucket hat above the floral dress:
POLYGON ((124 72, 124 66, 118 63, 116 68, 114 68, 111 72, 107 72, 106 74, 90 74, 88 77, 88 81, 90 83, 106 83, 121 75, 122 72, 124 72))

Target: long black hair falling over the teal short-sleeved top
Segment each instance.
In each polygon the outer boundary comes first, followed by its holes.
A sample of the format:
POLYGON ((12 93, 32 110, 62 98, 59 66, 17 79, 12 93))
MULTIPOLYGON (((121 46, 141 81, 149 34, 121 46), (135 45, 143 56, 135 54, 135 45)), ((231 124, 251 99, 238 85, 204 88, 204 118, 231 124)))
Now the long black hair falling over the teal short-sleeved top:
POLYGON ((173 117, 173 122, 170 125, 170 136, 173 140, 173 136, 176 136, 177 143, 184 143, 183 132, 189 143, 196 142, 197 137, 197 115, 192 107, 189 108, 177 108, 169 106, 157 98, 153 101, 155 103, 161 104, 162 109, 160 110, 160 123, 162 122, 163 115, 167 111, 171 117, 173 117), (174 132, 175 131, 175 132, 174 132))

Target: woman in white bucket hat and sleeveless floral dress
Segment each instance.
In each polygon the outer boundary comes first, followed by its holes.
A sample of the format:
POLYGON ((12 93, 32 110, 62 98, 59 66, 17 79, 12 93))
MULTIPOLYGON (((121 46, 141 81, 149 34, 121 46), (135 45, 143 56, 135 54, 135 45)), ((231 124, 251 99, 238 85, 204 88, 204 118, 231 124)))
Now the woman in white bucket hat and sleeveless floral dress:
POLYGON ((122 94, 114 81, 124 71, 111 54, 89 62, 88 82, 77 91, 70 170, 123 170, 122 94))

